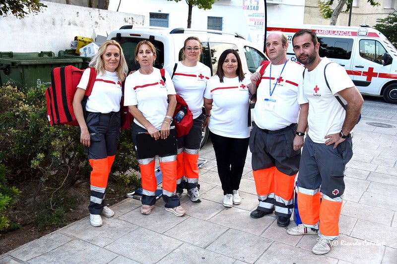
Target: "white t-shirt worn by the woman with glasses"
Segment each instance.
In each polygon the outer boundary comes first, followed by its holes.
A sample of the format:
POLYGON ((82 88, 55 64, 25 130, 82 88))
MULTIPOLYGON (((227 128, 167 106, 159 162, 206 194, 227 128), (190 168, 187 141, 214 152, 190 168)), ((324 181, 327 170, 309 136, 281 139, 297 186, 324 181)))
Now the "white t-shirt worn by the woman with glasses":
MULTIPOLYGON (((166 71, 172 76, 175 63, 165 67, 166 71)), ((197 62, 196 66, 188 67, 178 62, 172 81, 175 91, 189 106, 193 113, 193 118, 197 118, 201 113, 203 105, 203 94, 205 85, 211 77, 211 70, 203 63, 197 62)))

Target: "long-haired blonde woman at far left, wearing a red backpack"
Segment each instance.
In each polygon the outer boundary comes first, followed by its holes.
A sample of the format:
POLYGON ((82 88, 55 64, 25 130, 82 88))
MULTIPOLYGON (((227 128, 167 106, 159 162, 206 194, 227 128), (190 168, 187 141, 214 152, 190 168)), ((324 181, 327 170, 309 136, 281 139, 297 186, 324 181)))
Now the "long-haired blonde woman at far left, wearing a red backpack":
POLYGON ((84 71, 77 85, 73 112, 81 130, 80 142, 87 148, 92 167, 91 202, 88 206, 90 223, 101 226, 101 214, 106 217, 114 215, 114 211, 105 206, 105 191, 120 137, 121 83, 126 78, 128 67, 120 44, 114 40, 107 40, 99 47, 89 66, 95 68, 97 75, 84 109, 85 116, 81 101, 89 83, 91 68, 84 71))

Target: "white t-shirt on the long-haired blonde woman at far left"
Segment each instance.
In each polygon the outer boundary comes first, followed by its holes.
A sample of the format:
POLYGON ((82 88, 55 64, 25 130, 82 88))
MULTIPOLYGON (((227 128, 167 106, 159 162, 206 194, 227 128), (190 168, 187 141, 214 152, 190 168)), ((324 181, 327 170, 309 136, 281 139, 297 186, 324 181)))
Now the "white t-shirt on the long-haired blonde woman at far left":
MULTIPOLYGON (((90 68, 84 70, 77 87, 86 90, 90 78, 90 68)), ((121 81, 116 72, 105 71, 97 75, 85 109, 89 112, 110 113, 120 111, 122 96, 121 81)))

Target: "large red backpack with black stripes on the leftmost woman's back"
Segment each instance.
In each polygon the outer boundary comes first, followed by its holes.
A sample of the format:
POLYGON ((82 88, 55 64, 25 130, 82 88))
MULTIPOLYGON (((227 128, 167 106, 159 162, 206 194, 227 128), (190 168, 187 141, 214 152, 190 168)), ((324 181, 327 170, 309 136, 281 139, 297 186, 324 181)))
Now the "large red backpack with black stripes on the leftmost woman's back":
MULTIPOLYGON (((87 102, 96 78, 95 68, 90 67, 90 69, 90 78, 82 104, 87 102)), ((51 87, 46 89, 47 117, 51 125, 78 126, 72 103, 83 72, 84 70, 72 65, 57 67, 51 71, 51 87)))

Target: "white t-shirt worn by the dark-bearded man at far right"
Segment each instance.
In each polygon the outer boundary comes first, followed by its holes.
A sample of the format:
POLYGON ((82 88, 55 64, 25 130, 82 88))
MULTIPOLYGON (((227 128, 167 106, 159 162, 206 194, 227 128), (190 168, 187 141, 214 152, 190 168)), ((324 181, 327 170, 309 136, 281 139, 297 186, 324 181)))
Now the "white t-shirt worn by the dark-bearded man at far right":
MULTIPOLYGON (((346 70, 338 63, 331 63, 326 68, 326 75, 331 90, 324 79, 324 67, 330 59, 324 57, 319 65, 311 71, 305 71, 302 93, 304 100, 300 104, 309 102, 309 131, 308 135, 316 143, 324 143, 325 136, 338 133, 346 116, 346 111, 336 100, 338 92, 354 87, 346 70)), ((346 105, 346 101, 339 96, 346 105)))

